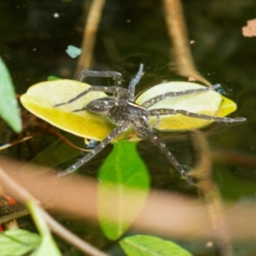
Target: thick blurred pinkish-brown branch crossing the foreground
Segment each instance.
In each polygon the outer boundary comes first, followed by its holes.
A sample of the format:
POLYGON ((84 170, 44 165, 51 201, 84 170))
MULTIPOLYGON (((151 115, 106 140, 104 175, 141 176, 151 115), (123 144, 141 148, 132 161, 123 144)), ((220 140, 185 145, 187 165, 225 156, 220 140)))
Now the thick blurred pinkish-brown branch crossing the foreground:
MULTIPOLYGON (((50 173, 40 177, 21 177, 19 175, 20 163, 15 164, 1 159, 1 166, 16 183, 21 184, 42 204, 51 207, 55 212, 65 212, 73 218, 97 221, 98 183, 95 180, 79 175, 58 178, 50 173)), ((36 167, 34 169, 36 172, 36 167)), ((13 195, 15 199, 19 199, 19 188, 10 187, 9 181, 2 176, 0 172, 0 183, 3 184, 5 191, 13 195)), ((119 186, 113 187, 111 195, 106 198, 109 202, 108 206, 112 203, 111 199, 116 200, 117 191, 119 191, 119 186)), ((131 192, 129 189, 124 191, 125 200, 126 196, 131 199, 131 192)), ((112 211, 115 212, 116 209, 107 207, 106 216, 113 216, 113 221, 118 221, 119 219, 115 218, 116 215, 112 214, 112 211)), ((130 212, 127 214, 129 215, 130 212)), ((241 207, 224 206, 224 216, 234 240, 256 239, 256 230, 252 225, 253 221, 256 221, 256 204, 246 203, 241 207)), ((176 237, 176 239, 212 240, 211 222, 207 208, 202 201, 154 189, 149 193, 143 211, 134 220, 132 228, 139 232, 176 237)))

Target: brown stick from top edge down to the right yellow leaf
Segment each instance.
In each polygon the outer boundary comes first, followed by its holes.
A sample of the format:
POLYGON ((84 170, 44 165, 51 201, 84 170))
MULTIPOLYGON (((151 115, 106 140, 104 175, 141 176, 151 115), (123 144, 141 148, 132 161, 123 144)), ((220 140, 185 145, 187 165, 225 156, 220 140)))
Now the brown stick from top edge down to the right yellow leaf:
POLYGON ((204 84, 211 85, 207 79, 204 79, 201 74, 196 71, 189 49, 189 40, 180 0, 162 1, 165 7, 167 30, 173 46, 177 73, 184 77, 192 77, 204 84))

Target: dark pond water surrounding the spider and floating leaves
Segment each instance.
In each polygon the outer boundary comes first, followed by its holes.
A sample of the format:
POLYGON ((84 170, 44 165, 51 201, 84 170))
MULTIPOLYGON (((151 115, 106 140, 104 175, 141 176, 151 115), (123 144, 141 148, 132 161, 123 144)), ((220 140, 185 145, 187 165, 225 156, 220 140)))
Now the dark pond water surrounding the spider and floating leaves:
MULTIPOLYGON (((85 1, 85 5, 89 6, 89 3, 85 1)), ((9 67, 17 94, 24 93, 29 86, 49 75, 73 79, 77 59, 70 58, 65 50, 69 44, 81 45, 83 6, 84 2, 80 0, 1 1, 0 55, 9 67)), ((187 0, 183 1, 183 9, 189 40, 195 40, 191 50, 198 71, 212 84, 221 84, 224 95, 237 103, 238 109, 232 116, 247 118, 244 125, 216 124, 205 129, 210 148, 255 157, 256 38, 243 37, 241 27, 246 26, 247 20, 255 18, 256 2, 187 0)), ((85 13, 87 11, 85 8, 85 13)), ((183 79, 170 72, 170 64, 175 67, 169 57, 170 49, 172 45, 160 1, 109 0, 97 32, 91 68, 123 73, 125 83, 128 83, 138 64, 143 62, 146 74, 139 85, 141 87, 138 86, 140 90, 163 79, 183 79)), ((0 129, 1 141, 13 138, 3 123, 0 129)), ((184 164, 193 164, 193 148, 185 135, 162 135, 162 138, 173 148, 177 159, 184 164)), ((38 152, 50 142, 51 138, 45 138, 44 142, 35 139, 32 152, 38 152)), ((160 173, 154 172, 154 159, 161 156, 144 143, 139 145, 140 152, 148 147, 148 156, 143 154, 143 159, 151 162, 148 166, 153 170, 154 187, 190 193, 190 189, 173 182, 172 177, 166 182, 164 167, 160 173)), ((9 154, 15 155, 20 152, 18 149, 12 149, 9 154)), ((25 146, 21 149, 25 158, 34 154, 25 146)), ((20 155, 17 158, 20 159, 20 155)), ((255 166, 234 165, 229 161, 216 164, 214 173, 225 199, 237 204, 255 201, 255 166)), ((98 236, 96 230, 94 232, 98 236)), ((236 255, 253 255, 249 253, 252 251, 237 247, 236 255)), ((196 255, 214 253, 199 252, 196 255)))

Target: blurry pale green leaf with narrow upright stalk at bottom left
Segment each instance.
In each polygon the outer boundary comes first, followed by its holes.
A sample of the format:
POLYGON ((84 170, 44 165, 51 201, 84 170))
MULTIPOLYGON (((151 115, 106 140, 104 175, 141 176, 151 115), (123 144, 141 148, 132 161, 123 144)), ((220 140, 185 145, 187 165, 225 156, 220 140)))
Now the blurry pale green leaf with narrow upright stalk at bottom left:
POLYGON ((31 256, 61 256, 61 252, 50 234, 49 228, 41 215, 40 208, 38 207, 37 203, 34 201, 28 201, 26 206, 31 212, 39 234, 42 237, 39 247, 31 254, 31 256))

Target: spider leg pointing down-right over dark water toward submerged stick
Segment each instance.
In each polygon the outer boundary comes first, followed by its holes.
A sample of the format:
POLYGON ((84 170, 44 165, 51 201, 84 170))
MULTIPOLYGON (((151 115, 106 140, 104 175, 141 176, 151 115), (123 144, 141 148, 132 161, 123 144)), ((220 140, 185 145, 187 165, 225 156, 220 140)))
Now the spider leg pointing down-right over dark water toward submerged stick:
POLYGON ((169 151, 165 143, 160 142, 160 139, 157 136, 155 136, 153 132, 148 131, 147 129, 140 127, 137 129, 137 132, 144 138, 147 138, 151 143, 156 145, 158 148, 160 148, 160 151, 166 155, 167 160, 170 162, 172 166, 174 166, 177 172, 179 172, 180 175, 183 176, 190 185, 194 185, 191 177, 189 177, 188 173, 183 170, 183 167, 178 163, 176 157, 169 151))

